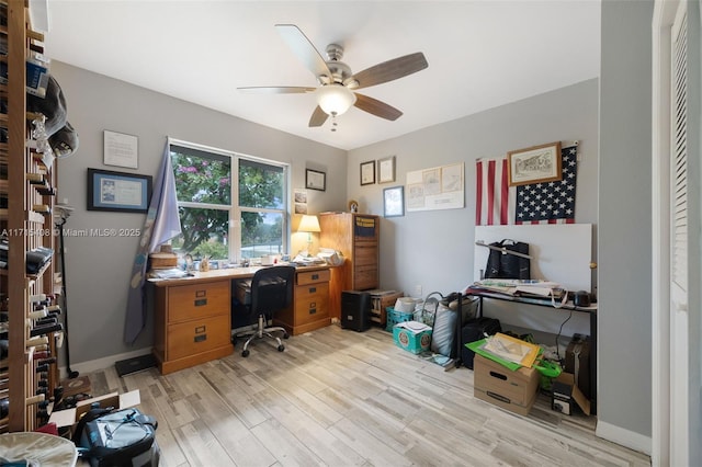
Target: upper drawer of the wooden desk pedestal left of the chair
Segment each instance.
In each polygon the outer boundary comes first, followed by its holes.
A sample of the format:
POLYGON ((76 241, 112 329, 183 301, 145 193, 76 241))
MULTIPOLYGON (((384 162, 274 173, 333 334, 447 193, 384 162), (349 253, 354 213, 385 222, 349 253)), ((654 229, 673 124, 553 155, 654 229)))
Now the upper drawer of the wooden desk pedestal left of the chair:
POLYGON ((229 315, 229 282, 179 285, 168 289, 168 322, 229 315))

